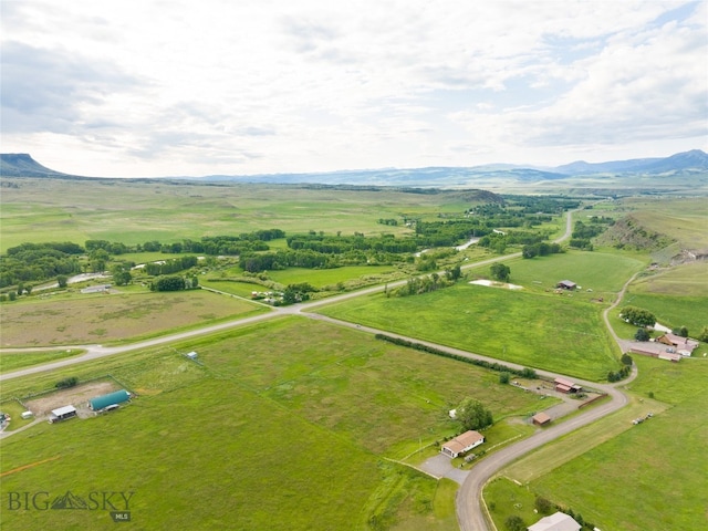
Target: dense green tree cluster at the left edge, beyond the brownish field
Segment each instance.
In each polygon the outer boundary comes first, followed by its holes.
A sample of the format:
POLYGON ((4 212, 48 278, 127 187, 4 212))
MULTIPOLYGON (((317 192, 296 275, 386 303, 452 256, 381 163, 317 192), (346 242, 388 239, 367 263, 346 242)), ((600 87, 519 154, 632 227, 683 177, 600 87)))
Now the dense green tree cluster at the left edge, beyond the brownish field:
POLYGON ((70 241, 12 247, 0 257, 0 288, 81 273, 79 256, 84 252, 81 246, 70 241))

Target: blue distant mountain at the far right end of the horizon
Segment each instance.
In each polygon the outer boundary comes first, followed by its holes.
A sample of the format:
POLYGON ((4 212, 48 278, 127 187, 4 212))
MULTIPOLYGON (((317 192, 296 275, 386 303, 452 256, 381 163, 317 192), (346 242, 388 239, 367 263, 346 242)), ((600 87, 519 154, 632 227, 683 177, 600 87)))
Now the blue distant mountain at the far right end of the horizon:
POLYGON ((708 155, 700 149, 677 153, 666 158, 635 158, 632 160, 615 160, 611 163, 575 163, 553 168, 560 174, 569 176, 597 174, 646 174, 659 175, 666 173, 694 173, 708 170, 708 155))

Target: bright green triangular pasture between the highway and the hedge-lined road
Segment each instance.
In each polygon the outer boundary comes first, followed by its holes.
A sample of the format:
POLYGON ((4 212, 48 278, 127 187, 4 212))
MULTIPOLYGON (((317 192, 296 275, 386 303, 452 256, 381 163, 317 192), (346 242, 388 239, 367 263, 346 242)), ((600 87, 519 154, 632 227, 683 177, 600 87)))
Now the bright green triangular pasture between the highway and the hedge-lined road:
MULTIPOLYGON (((512 270, 513 274, 513 270, 512 270)), ((616 371, 602 306, 554 293, 457 284, 423 295, 374 294, 317 310, 336 319, 587 379, 616 371)))

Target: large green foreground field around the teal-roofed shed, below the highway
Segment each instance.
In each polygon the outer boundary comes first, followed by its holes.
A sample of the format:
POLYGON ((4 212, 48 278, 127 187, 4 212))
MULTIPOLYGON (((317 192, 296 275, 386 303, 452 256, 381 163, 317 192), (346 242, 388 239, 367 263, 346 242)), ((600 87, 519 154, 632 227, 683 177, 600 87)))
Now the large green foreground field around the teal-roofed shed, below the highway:
MULTIPOLYGON (((376 521, 449 530, 454 489, 383 457, 454 433, 447 410, 465 396, 498 416, 538 407, 538 396, 499 385, 496 374, 312 320, 175 346, 4 383, 3 398, 66 375, 110 373, 139 396, 111 415, 41 423, 2 440, 3 499, 19 490, 131 490, 127 529, 367 529, 376 521), (191 350, 204 365, 179 355, 191 350)), ((4 511, 2 519, 8 530, 110 521, 105 511, 4 511)))

